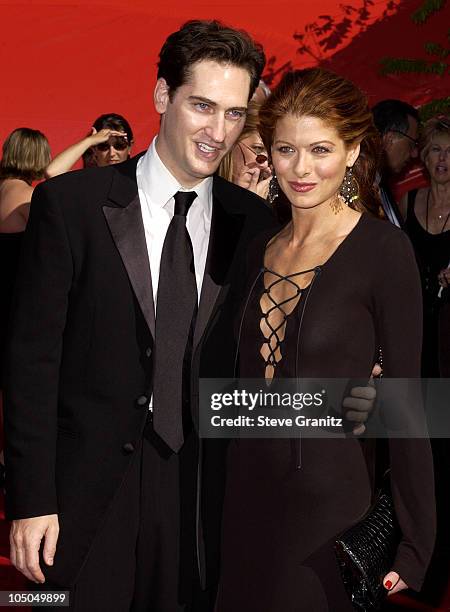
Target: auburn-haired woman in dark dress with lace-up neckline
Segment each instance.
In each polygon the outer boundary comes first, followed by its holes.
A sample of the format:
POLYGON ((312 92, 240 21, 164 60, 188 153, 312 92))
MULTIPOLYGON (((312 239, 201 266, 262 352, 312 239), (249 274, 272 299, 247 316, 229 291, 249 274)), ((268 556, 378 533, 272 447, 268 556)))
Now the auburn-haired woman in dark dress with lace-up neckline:
MULTIPOLYGON (((260 131, 292 221, 249 252, 239 342, 243 378, 420 376, 421 296, 406 236, 375 218, 378 140, 367 101, 321 69, 287 74, 260 131)), ((383 579, 421 588, 435 515, 426 439, 392 439, 402 540, 383 579)), ((228 455, 217 612, 345 612, 333 543, 371 504, 360 442, 239 439, 228 455)))

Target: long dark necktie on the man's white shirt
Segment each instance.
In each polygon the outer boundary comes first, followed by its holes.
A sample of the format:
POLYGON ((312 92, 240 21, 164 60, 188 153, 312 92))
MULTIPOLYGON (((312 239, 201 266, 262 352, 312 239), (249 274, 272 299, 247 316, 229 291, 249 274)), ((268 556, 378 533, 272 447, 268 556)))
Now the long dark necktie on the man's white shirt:
POLYGON ((161 254, 156 307, 153 361, 153 428, 178 452, 183 445, 183 362, 193 318, 197 312, 194 253, 186 229, 186 215, 197 197, 194 191, 175 194, 175 213, 167 230, 161 254))

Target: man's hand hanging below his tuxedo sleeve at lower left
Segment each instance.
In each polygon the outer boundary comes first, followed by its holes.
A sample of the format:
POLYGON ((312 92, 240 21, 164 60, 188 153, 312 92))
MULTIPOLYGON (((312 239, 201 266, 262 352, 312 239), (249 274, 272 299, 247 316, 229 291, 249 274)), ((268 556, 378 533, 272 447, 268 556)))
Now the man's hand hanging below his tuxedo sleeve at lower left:
POLYGON ((41 541, 45 538, 44 562, 53 565, 58 535, 57 514, 13 521, 9 533, 11 563, 29 580, 44 583, 45 577, 39 565, 41 541))

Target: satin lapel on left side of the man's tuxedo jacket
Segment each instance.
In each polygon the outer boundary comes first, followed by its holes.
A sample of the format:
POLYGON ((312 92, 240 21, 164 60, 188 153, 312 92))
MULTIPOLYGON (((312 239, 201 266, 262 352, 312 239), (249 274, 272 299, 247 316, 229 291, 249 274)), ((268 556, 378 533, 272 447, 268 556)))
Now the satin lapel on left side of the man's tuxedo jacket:
POLYGON ((125 207, 103 206, 103 213, 122 257, 142 314, 155 338, 152 277, 139 196, 136 193, 132 201, 125 207))

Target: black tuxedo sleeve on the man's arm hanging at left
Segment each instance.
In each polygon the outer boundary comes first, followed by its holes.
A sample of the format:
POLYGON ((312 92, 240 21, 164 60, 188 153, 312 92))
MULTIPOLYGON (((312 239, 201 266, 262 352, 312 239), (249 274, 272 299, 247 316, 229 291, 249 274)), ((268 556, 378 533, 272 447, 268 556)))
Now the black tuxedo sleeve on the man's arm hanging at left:
POLYGON ((73 266, 57 200, 51 184, 35 189, 12 300, 4 405, 10 520, 58 512, 58 384, 73 266))

